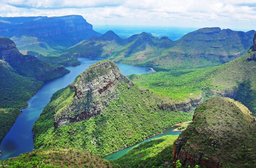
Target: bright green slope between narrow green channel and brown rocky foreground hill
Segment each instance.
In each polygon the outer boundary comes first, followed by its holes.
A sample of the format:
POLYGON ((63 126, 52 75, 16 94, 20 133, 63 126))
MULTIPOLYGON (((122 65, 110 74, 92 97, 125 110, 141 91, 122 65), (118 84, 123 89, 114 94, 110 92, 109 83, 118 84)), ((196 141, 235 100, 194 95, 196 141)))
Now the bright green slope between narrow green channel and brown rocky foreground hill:
POLYGON ((172 167, 173 141, 177 138, 166 135, 141 143, 112 162, 124 168, 172 167))

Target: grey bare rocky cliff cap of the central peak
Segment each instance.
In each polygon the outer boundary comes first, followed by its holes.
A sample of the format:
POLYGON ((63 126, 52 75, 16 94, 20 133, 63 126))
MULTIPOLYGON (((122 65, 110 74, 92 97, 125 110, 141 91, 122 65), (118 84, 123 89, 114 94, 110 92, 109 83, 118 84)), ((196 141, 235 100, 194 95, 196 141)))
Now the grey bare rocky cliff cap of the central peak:
POLYGON ((109 100, 118 97, 121 90, 129 89, 132 85, 114 62, 96 62, 70 85, 70 89, 74 89, 74 98, 56 112, 54 126, 78 122, 100 114, 109 100), (120 87, 119 84, 125 87, 120 87))

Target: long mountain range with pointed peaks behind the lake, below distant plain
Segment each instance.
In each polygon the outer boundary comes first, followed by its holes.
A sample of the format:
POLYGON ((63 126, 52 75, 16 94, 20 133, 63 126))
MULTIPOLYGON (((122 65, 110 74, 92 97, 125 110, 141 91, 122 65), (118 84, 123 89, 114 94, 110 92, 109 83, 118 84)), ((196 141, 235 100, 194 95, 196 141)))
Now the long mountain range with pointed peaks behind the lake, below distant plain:
POLYGON ((254 30, 203 28, 188 33, 177 41, 164 36, 158 39, 140 33, 121 39, 113 31, 83 40, 56 56, 104 57, 157 71, 197 69, 224 64, 246 53, 253 45, 254 30))

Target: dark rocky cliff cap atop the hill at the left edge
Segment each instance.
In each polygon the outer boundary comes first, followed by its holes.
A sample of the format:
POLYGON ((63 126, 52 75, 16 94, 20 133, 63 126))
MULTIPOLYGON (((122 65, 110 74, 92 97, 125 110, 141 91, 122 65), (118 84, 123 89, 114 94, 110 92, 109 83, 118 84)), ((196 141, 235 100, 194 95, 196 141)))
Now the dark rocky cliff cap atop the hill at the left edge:
POLYGON ((21 53, 12 40, 0 37, 0 59, 8 62, 20 56, 21 53))

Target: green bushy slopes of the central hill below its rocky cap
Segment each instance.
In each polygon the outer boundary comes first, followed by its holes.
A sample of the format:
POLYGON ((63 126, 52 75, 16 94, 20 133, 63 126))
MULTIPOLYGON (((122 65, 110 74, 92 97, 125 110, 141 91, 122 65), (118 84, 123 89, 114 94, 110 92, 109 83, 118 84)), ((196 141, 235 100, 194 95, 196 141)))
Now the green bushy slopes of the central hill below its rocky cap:
MULTIPOLYGON (((118 87, 124 86, 125 83, 118 84, 118 87)), ((163 98, 135 85, 122 91, 119 98, 110 100, 101 115, 54 128, 53 118, 55 111, 61 108, 60 102, 72 96, 74 89, 67 86, 57 91, 43 109, 33 126, 35 148, 70 145, 102 156, 192 117, 192 112, 159 110, 158 103, 163 98)))

